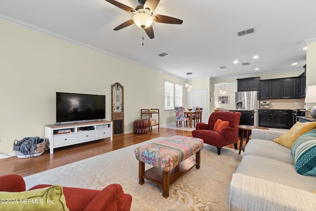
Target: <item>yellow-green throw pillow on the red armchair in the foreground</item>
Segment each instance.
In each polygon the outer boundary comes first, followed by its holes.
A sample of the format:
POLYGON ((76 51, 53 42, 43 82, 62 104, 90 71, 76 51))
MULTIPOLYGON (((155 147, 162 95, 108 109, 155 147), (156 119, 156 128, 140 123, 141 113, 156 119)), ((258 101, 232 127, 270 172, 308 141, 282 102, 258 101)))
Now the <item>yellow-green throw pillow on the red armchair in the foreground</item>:
POLYGON ((69 211, 61 185, 23 192, 0 192, 0 199, 8 200, 1 205, 5 211, 69 211))

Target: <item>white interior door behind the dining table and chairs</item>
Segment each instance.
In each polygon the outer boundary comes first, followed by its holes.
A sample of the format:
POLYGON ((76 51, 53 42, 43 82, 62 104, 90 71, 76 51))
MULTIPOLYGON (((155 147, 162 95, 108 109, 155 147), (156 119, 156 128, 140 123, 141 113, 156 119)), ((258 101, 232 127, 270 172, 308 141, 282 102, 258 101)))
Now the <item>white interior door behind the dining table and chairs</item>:
POLYGON ((188 108, 199 106, 203 108, 202 112, 202 122, 206 122, 206 106, 207 106, 207 95, 206 89, 191 89, 187 92, 187 105, 188 108))

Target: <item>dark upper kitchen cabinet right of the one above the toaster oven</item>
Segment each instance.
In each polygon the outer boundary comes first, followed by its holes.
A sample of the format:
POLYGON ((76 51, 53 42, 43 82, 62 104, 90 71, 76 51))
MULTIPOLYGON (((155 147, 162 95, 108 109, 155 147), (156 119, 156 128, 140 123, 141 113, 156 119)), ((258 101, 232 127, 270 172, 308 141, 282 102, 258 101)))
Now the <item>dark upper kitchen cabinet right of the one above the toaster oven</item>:
POLYGON ((281 80, 281 99, 299 98, 299 79, 287 78, 281 80))

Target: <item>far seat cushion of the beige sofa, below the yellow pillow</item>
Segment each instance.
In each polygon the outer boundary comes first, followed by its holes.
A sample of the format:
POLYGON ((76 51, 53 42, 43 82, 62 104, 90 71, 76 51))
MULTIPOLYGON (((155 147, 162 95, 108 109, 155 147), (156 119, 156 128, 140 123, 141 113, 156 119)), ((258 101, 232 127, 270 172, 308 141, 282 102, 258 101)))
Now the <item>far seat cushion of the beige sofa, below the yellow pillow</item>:
POLYGON ((245 147, 244 155, 257 155, 294 165, 291 150, 269 140, 250 139, 245 147))

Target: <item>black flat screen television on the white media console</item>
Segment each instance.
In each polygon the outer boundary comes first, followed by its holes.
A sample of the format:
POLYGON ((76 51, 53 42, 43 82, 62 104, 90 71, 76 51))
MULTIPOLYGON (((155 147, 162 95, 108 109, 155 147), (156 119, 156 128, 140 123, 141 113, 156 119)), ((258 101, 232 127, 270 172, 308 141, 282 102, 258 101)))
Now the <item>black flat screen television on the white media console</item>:
POLYGON ((105 95, 56 92, 56 122, 105 119, 105 95))

